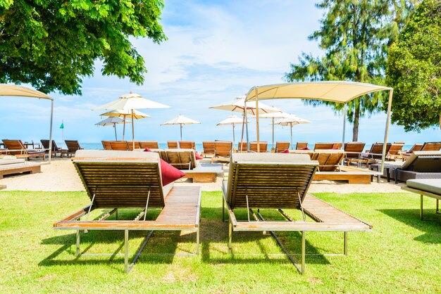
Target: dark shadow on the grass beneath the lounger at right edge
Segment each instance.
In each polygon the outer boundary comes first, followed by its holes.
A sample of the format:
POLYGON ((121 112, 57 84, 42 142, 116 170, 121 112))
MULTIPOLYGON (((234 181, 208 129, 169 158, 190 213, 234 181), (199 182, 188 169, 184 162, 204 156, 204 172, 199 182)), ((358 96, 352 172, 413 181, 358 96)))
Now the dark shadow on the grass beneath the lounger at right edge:
POLYGON ((402 222, 408 226, 412 226, 419 231, 423 231, 425 234, 414 238, 415 241, 423 242, 423 243, 441 243, 441 234, 440 234, 440 226, 441 226, 441 216, 435 215, 433 213, 433 209, 431 210, 423 210, 423 216, 425 218, 430 218, 432 220, 421 220, 420 218, 420 210, 378 210, 379 212, 384 213, 397 221, 402 222))

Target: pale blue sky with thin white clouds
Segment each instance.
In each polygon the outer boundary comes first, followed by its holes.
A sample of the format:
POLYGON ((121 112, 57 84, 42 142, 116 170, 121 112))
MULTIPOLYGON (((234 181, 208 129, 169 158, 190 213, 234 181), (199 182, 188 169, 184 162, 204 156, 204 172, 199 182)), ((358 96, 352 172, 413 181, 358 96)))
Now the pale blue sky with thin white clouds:
MULTIPOLYGON (((112 127, 94 126, 106 117, 100 117, 101 112, 92 109, 130 91, 171 106, 169 109, 141 110, 151 118, 135 121, 135 139, 159 142, 179 139, 178 126, 160 124, 182 114, 201 122, 185 126, 184 139, 197 142, 231 140, 231 128, 216 127, 216 123, 237 113, 211 110, 209 106, 231 101, 256 85, 284 82, 282 78, 290 70, 290 63, 296 63, 302 51, 315 56, 321 54, 316 42, 307 39, 319 28, 323 13, 313 1, 166 0, 165 4, 161 23, 168 41, 158 45, 150 39, 132 39, 149 70, 144 85, 137 86, 128 79, 103 77, 101 65, 97 63, 94 77, 83 81, 82 96, 51 94, 55 98, 56 141, 61 141, 58 129, 61 121, 65 126, 65 139, 80 142, 114 139, 112 127)), ((39 141, 49 137, 48 101, 2 99, 2 139, 39 141)), ((312 108, 294 99, 269 104, 312 122, 294 127, 294 141, 313 143, 342 138, 342 117, 330 108, 312 108)), ((271 142, 270 122, 262 120, 261 140, 271 142)), ((255 139, 254 120, 249 127, 250 138, 255 139)), ((364 117, 359 140, 382 141, 384 127, 384 114, 364 117)), ((122 126, 118 126, 118 133, 122 133, 122 126)), ((236 135, 240 135, 239 128, 236 135)), ((288 127, 275 127, 276 140, 288 141, 289 138, 288 127)), ((347 139, 352 139, 350 124, 347 139)), ((389 139, 407 143, 439 141, 441 132, 440 129, 428 129, 421 134, 406 133, 402 127, 392 125, 389 139)))

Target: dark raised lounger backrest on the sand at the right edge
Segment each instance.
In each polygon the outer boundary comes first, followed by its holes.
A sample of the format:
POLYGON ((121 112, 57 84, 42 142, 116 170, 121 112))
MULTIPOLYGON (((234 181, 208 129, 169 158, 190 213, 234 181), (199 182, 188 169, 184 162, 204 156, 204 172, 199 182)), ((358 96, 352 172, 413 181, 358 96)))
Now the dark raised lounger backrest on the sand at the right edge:
POLYGON ((441 151, 415 151, 399 169, 411 172, 441 172, 441 151))

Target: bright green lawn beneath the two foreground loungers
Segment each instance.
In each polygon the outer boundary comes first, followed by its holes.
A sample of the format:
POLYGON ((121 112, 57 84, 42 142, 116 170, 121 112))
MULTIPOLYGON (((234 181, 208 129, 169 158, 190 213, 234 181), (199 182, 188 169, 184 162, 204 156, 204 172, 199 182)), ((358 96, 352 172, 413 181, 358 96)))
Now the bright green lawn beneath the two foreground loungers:
MULTIPOLYGON (((235 255, 228 255, 221 192, 202 194, 199 256, 185 255, 195 250, 194 233, 158 231, 134 269, 124 274, 123 232, 82 234, 82 253, 108 255, 77 259, 75 231, 52 229, 54 222, 88 204, 85 193, 1 191, 0 292, 441 292, 441 217, 433 213, 435 200, 425 198, 425 214, 440 221, 421 222, 415 194, 316 196, 373 224, 373 232, 349 233, 346 257, 306 257, 304 276, 269 235, 237 232, 233 234, 235 255)), ((125 214, 131 217, 137 212, 125 214)), ((152 210, 149 217, 157 213, 152 210)), ((263 215, 272 214, 264 211, 263 215)), ((130 258, 144 236, 144 232, 130 233, 130 258)), ((278 236, 290 252, 299 253, 298 232, 278 236)), ((342 233, 306 234, 308 253, 342 253, 342 244, 342 233)))

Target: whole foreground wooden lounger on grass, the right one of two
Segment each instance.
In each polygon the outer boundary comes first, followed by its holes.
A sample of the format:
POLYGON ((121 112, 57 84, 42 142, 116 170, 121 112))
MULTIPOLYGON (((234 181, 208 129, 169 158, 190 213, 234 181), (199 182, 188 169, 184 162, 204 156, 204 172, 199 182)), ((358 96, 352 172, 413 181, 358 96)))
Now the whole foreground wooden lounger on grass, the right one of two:
POLYGON ((223 217, 228 209, 228 251, 232 252, 233 231, 270 231, 282 246, 275 231, 302 231, 302 266, 304 274, 306 231, 343 231, 344 255, 347 254, 348 231, 371 231, 372 226, 362 222, 333 205, 307 194, 318 162, 306 154, 233 153, 228 181, 223 183, 223 217), (246 209, 247 219, 238 220, 236 209, 246 209), (271 221, 260 209, 275 209, 287 222, 271 221), (302 212, 302 219, 294 221, 283 209, 302 212), (308 215, 314 222, 307 222, 308 215))

